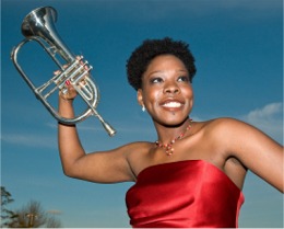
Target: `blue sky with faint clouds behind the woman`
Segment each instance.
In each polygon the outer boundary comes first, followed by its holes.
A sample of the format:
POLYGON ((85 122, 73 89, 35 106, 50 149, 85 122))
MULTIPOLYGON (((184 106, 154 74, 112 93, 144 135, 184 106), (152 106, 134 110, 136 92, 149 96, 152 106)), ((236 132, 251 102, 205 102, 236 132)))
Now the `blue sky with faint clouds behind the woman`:
MULTIPOLYGON (((79 124, 86 151, 156 139, 125 66, 143 39, 165 36, 188 42, 197 59, 193 119, 235 117, 283 144, 282 0, 2 0, 1 185, 15 199, 11 208, 35 199, 59 213, 64 227, 129 227, 125 193, 132 183, 64 176, 57 122, 10 60, 12 47, 24 38, 24 16, 44 5, 57 10, 56 27, 70 49, 94 66, 97 110, 117 129, 109 138, 96 118, 79 124)), ((38 46, 28 47, 19 59, 31 79, 43 83, 56 67, 38 46)), ((282 194, 251 173, 244 193, 240 227, 283 227, 282 194)))

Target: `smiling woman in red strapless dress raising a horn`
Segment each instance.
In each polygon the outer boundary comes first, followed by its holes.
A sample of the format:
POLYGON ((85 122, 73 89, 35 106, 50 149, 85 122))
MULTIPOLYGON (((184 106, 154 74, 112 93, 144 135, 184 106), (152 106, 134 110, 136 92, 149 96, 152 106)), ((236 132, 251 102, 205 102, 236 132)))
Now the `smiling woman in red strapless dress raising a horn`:
MULTIPOLYGON (((151 115, 156 142, 132 142, 85 153, 75 126, 59 124, 66 175, 98 183, 132 181, 127 206, 132 227, 237 227, 247 170, 283 193, 283 147, 233 118, 194 122, 194 58, 184 42, 147 39, 127 64, 138 102, 151 115)), ((76 93, 59 96, 73 117, 76 93)))

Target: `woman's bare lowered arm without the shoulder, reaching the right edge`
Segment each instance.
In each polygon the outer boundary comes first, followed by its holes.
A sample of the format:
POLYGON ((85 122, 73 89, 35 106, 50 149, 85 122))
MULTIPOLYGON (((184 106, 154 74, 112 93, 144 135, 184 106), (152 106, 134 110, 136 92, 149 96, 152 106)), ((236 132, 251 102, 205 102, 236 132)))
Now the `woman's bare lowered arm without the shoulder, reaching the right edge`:
POLYGON ((259 129, 230 118, 221 121, 216 134, 223 138, 227 157, 237 158, 246 168, 284 192, 283 147, 259 129))

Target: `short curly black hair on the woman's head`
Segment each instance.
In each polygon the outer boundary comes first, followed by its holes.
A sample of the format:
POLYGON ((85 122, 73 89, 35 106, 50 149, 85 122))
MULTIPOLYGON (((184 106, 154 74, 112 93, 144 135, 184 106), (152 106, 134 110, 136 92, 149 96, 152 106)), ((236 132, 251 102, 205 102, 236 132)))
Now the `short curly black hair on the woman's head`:
POLYGON ((155 57, 159 55, 174 55, 178 57, 186 66, 190 82, 194 77, 197 69, 194 57, 189 50, 189 45, 181 41, 173 41, 170 37, 163 39, 145 39, 130 56, 127 61, 128 82, 135 90, 142 88, 142 76, 147 66, 155 57))

